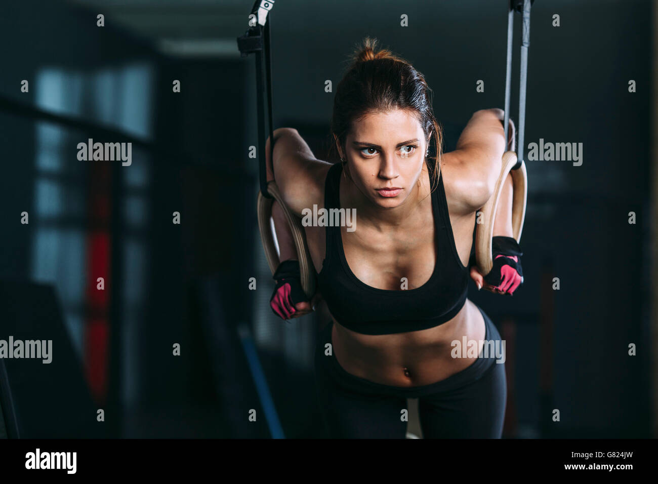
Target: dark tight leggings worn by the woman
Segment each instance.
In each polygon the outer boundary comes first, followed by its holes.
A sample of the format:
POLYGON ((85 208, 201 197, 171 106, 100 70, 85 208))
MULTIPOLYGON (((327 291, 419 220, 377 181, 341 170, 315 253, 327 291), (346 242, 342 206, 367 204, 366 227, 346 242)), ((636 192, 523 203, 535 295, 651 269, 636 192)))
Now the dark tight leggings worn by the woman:
MULTIPOLYGON (((491 319, 480 312, 486 326, 484 339, 501 340, 491 319)), ((504 360, 496 362, 492 352, 484 358, 483 347, 474 363, 437 383, 393 387, 348 373, 333 352, 326 356, 324 345, 331 342, 332 326, 324 327, 315 348, 316 390, 330 438, 404 439, 407 398, 418 398, 425 439, 501 437, 507 379, 504 360)))

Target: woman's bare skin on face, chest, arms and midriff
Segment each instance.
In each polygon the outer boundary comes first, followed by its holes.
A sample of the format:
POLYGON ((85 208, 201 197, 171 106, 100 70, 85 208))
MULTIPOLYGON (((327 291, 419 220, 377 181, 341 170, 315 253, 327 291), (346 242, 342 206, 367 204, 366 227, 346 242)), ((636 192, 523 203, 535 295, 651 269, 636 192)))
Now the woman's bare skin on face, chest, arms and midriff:
MULTIPOLYGON (((488 200, 501 169, 505 142, 500 117, 500 110, 478 111, 465 128, 457 149, 442 156, 450 223, 464 266, 470 255, 476 211, 488 200)), ((284 131, 279 132, 280 142, 274 146, 274 171, 286 205, 298 215, 313 204, 318 209, 324 207, 324 182, 331 165, 316 160, 295 130, 280 129, 284 131)), ((341 156, 347 159, 340 181, 341 206, 355 208, 357 215, 357 230, 347 232, 347 227, 341 227, 343 250, 351 271, 369 286, 401 290, 402 277, 407 278, 409 289, 422 286, 432 275, 436 251, 450 250, 434 244, 430 178, 423 162, 427 142, 415 117, 395 110, 374 113, 353 123, 345 151, 339 148, 341 156), (408 140, 417 141, 397 146, 408 140), (386 198, 376 191, 385 187, 401 190, 386 198)), ((509 176, 501 194, 494 236, 512 234, 511 188, 509 176)), ((311 258, 316 272, 320 272, 325 229, 305 230, 311 258)), ((472 271, 471 276, 474 280, 481 277, 472 271)), ((332 346, 343 369, 357 377, 396 387, 429 385, 465 369, 474 363, 474 358, 452 358, 451 343, 461 341, 463 336, 478 341, 485 336, 482 314, 470 300, 453 319, 422 331, 362 335, 332 319, 332 346)), ((478 353, 480 350, 482 344, 478 345, 478 353)))

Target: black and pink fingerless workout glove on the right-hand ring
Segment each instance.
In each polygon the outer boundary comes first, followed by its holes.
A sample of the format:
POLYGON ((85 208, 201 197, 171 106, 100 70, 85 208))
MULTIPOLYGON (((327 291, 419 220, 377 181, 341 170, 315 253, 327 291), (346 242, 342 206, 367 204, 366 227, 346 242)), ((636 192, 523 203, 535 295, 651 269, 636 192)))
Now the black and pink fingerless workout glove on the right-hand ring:
POLYGON ((523 252, 515 238, 493 237, 493 267, 491 272, 484 276, 484 282, 502 292, 512 294, 523 282, 521 255, 523 252))

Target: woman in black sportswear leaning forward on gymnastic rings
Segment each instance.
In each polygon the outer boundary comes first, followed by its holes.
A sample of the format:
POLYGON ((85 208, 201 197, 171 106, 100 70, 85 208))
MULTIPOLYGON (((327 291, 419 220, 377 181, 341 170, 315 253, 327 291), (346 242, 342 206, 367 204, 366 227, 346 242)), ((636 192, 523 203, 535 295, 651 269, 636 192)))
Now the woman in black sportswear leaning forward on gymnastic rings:
MULTIPOLYGON (((301 217, 314 205, 354 209, 356 221, 305 227, 318 277, 308 302, 275 204, 284 262, 271 306, 288 319, 326 302, 331 321, 315 370, 330 437, 404 438, 406 398, 418 398, 426 438, 499 438, 505 369, 495 355, 484 357, 483 341, 500 335, 466 296, 476 211, 493 192, 507 145, 503 111, 476 112, 457 149, 442 155, 422 74, 375 45, 365 40, 336 90, 332 133, 342 163, 316 159, 294 129, 274 132, 268 180, 290 210, 301 217), (473 342, 466 358, 455 351, 464 337, 473 342)), ((478 289, 511 294, 522 281, 511 199, 509 177, 494 223, 494 270, 485 278, 470 269, 478 289)))

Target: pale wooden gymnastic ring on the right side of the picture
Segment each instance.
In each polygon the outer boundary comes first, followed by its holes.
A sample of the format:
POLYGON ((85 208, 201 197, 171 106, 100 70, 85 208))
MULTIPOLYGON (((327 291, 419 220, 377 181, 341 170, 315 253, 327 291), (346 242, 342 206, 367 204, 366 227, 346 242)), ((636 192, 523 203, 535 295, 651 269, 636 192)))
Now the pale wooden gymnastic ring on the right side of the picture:
POLYGON ((521 161, 521 166, 513 170, 517 164, 517 153, 505 151, 503 154, 503 167, 498 177, 498 182, 493 190, 492 196, 482 207, 483 223, 476 224, 475 229, 475 258, 478 269, 483 276, 488 275, 493 269, 492 237, 493 221, 498 209, 498 200, 502 192, 503 184, 507 180, 507 174, 512 173, 513 196, 512 196, 512 230, 513 237, 517 243, 521 242, 523 222, 526 217, 526 202, 528 200, 528 174, 526 165, 521 161))

